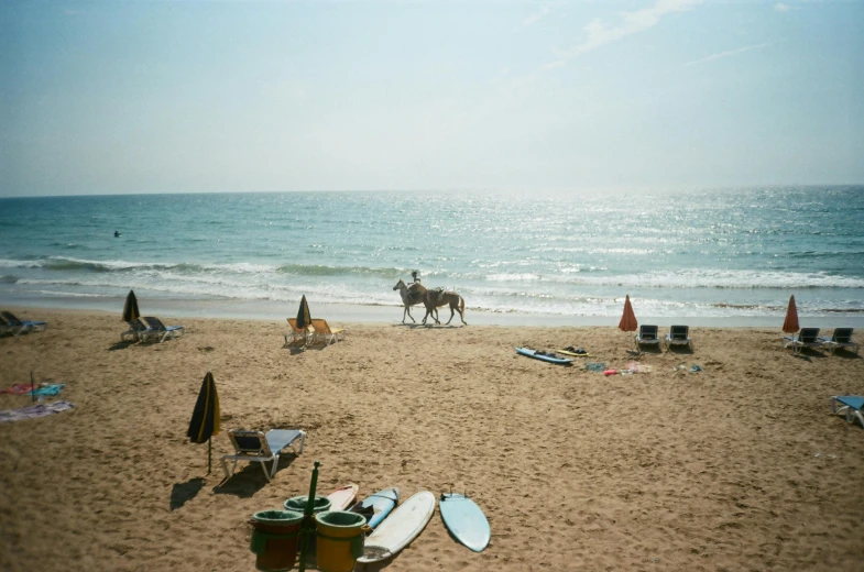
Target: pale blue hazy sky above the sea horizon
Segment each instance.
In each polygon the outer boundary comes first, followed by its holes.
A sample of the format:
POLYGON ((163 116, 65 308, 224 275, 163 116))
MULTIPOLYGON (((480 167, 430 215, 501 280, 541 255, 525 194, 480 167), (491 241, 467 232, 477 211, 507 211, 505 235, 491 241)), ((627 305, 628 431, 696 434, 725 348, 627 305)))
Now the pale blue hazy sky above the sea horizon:
POLYGON ((864 183, 864 1, 8 1, 0 197, 864 183))

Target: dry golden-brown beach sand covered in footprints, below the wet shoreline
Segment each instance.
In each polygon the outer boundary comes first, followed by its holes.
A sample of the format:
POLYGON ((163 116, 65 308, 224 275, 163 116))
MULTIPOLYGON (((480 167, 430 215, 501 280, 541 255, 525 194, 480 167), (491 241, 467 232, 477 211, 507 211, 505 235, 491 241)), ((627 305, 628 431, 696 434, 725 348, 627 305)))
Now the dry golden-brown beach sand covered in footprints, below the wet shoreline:
POLYGON ((127 345, 116 315, 18 314, 50 328, 0 339, 0 387, 33 370, 75 409, 0 424, 2 570, 253 570, 248 519, 305 494, 315 460, 322 493, 452 487, 485 510, 484 552, 436 512, 389 572, 864 570, 864 430, 829 408, 864 394, 864 360, 792 356, 778 329, 693 329, 692 354, 604 377, 513 346, 625 367, 631 334, 349 323, 298 352, 284 321, 163 318, 186 336, 127 345), (223 429, 209 475, 207 446, 185 437, 207 370, 223 429), (256 464, 222 482, 231 428, 303 428, 306 451, 272 483, 256 464))

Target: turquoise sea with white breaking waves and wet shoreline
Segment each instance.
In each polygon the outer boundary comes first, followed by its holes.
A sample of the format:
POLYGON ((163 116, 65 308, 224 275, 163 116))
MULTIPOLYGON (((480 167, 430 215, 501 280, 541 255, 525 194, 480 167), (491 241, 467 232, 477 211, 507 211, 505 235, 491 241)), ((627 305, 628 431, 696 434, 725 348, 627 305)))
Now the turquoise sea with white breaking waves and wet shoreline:
POLYGON ((0 199, 0 306, 400 321, 413 271, 475 323, 613 324, 630 295, 767 326, 794 295, 802 324, 864 326, 864 186, 0 199))

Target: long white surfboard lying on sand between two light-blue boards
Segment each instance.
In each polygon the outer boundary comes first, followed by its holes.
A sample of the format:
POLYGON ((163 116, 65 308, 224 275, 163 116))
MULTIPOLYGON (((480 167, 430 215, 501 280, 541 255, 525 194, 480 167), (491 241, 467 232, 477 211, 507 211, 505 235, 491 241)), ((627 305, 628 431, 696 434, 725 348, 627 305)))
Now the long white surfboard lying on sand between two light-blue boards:
POLYGON ((435 513, 435 495, 423 491, 397 506, 367 537, 361 563, 381 562, 400 552, 417 538, 435 513))

